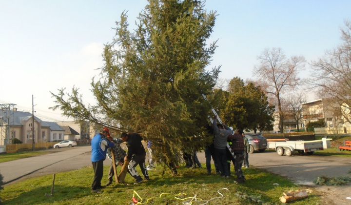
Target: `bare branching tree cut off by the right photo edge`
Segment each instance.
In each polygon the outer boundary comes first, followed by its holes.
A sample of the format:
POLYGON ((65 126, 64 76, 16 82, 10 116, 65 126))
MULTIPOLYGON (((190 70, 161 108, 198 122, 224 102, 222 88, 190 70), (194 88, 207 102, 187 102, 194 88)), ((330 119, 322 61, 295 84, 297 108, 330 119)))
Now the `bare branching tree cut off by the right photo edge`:
POLYGON ((317 88, 320 98, 333 99, 341 107, 345 121, 351 123, 351 22, 341 29, 343 43, 312 62, 310 88, 317 88))

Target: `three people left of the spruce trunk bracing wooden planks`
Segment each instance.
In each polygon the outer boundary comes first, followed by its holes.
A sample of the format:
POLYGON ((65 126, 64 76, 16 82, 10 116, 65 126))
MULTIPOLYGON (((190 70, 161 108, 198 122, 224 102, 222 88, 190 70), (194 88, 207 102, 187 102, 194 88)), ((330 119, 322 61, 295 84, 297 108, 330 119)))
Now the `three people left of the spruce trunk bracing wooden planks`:
POLYGON ((92 155, 91 161, 94 169, 94 179, 92 183, 92 192, 100 193, 100 189, 112 184, 115 174, 114 166, 120 165, 121 170, 117 176, 119 183, 124 183, 127 172, 136 180, 134 184, 138 184, 143 180, 150 180, 149 173, 145 165, 146 152, 141 143, 142 137, 137 133, 123 132, 120 138, 112 138, 108 128, 103 128, 100 133, 94 136, 91 141, 92 155), (120 146, 122 142, 126 142, 128 153, 120 146), (113 155, 113 156, 112 156, 113 155), (108 182, 106 185, 101 185, 103 176, 103 161, 106 156, 112 160, 108 182), (113 162, 113 158, 115 162, 113 162), (136 166, 139 165, 144 179, 139 175, 136 166))

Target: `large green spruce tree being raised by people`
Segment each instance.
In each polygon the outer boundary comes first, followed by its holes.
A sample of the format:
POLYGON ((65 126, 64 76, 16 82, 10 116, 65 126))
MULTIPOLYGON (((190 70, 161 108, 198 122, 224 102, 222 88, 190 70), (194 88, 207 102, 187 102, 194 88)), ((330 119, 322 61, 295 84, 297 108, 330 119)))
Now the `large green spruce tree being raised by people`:
POLYGON ((104 49, 101 78, 91 83, 98 104, 84 105, 77 88, 71 94, 61 89, 52 93, 53 109, 141 133, 163 162, 177 162, 179 150, 206 144, 201 134, 210 105, 201 93, 212 92, 219 67, 205 70, 216 48, 215 42, 207 45, 216 15, 203 7, 198 0, 149 0, 132 32, 122 13, 104 49))

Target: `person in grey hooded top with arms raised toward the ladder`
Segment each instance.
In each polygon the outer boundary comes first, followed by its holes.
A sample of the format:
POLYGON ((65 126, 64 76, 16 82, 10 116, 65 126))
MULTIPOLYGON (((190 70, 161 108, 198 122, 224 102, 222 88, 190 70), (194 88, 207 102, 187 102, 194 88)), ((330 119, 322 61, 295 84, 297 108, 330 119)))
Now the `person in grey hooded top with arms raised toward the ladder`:
POLYGON ((216 156, 218 169, 222 177, 229 178, 230 173, 228 171, 226 149, 227 149, 227 138, 230 134, 232 134, 232 130, 224 123, 223 125, 222 124, 217 125, 216 115, 212 125, 215 131, 214 146, 215 146, 215 156, 216 156))

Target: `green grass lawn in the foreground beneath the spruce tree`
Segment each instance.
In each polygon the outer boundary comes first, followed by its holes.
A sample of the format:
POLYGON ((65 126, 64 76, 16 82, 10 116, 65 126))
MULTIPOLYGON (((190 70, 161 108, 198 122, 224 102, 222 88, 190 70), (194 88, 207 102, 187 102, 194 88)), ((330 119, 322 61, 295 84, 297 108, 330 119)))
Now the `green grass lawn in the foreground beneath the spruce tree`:
MULTIPOLYGON (((204 164, 202 165, 204 166, 204 164)), ((107 183, 108 168, 109 166, 104 167, 102 185, 107 183)), ((126 182, 130 185, 113 183, 102 189, 103 192, 100 194, 91 193, 93 168, 84 167, 75 171, 57 173, 53 196, 45 196, 46 193, 51 193, 53 182, 53 175, 47 175, 5 186, 0 191, 0 197, 4 205, 131 205, 134 194, 139 202, 141 200, 138 196, 143 199, 142 204, 154 205, 181 205, 192 199, 192 205, 202 205, 211 199, 213 200, 208 205, 264 203, 275 205, 280 204, 279 197, 284 192, 306 188, 295 185, 283 177, 255 168, 243 169, 247 179, 245 184, 235 184, 235 177, 226 179, 216 174, 207 175, 205 168, 180 167, 178 168, 179 175, 176 177, 170 176, 169 169, 163 171, 159 165, 156 168, 157 170, 149 171, 151 180, 148 182, 135 185, 133 184, 134 178, 127 175, 126 182), (279 185, 273 185, 274 183, 279 185), (217 193, 218 190, 223 194, 223 197, 217 193)), ((139 169, 137 170, 141 173, 139 169)), ((231 172, 233 176, 233 167, 231 172)), ((307 198, 290 204, 315 205, 321 204, 321 199, 312 192, 307 198)))

